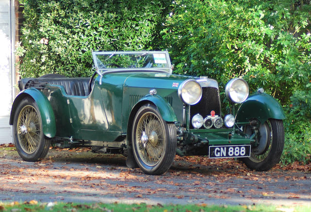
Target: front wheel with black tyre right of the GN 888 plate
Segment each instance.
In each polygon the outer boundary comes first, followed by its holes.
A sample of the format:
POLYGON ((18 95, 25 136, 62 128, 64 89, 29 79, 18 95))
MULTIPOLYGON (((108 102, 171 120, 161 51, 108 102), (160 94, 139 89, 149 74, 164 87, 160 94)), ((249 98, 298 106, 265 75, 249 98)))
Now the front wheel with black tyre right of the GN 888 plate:
MULTIPOLYGON (((244 128, 248 135, 252 134, 249 126, 244 128)), ((242 161, 252 170, 267 171, 280 161, 284 147, 284 127, 282 120, 269 119, 259 127, 259 145, 252 147, 251 157, 242 161)))

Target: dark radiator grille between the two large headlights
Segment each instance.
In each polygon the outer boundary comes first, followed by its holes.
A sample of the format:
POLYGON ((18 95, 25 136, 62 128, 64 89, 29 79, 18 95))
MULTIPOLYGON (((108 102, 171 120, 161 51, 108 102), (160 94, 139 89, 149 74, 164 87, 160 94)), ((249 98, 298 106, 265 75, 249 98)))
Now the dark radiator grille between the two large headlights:
MULTIPOLYGON (((201 114, 205 118, 210 115, 211 111, 215 111, 216 115, 221 116, 219 91, 214 87, 203 87, 201 100, 197 104, 190 106, 190 122, 193 115, 201 114)), ((190 128, 193 128, 191 124, 190 128)))

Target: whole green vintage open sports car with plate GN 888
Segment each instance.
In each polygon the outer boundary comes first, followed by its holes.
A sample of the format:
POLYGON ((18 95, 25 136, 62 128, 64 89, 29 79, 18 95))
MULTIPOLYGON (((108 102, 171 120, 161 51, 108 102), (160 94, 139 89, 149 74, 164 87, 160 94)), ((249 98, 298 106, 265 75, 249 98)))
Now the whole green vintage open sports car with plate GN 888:
POLYGON ((230 80, 231 109, 222 114, 218 83, 172 74, 167 51, 92 55, 90 78, 50 74, 19 81, 10 124, 25 161, 44 158, 52 144, 121 153, 127 166, 153 175, 167 171, 175 154, 241 158, 261 171, 279 162, 285 115, 263 89, 248 97, 244 80, 230 80))

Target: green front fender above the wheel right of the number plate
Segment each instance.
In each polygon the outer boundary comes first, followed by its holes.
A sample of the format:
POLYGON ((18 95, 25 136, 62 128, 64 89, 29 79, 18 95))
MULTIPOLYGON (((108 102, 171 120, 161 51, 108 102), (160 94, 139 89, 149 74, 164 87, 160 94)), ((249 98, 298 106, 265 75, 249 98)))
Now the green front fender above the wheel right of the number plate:
POLYGON ((285 114, 275 98, 265 93, 257 93, 242 103, 236 115, 236 122, 248 122, 252 118, 264 123, 270 118, 285 119, 285 114))

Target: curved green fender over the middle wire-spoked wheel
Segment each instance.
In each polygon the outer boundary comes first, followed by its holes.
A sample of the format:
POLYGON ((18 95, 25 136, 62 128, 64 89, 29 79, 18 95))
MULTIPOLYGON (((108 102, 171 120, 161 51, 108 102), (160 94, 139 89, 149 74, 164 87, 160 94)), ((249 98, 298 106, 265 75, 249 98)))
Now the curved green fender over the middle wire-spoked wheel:
POLYGON ((173 111, 172 106, 170 105, 170 103, 167 100, 165 100, 161 96, 147 95, 147 96, 141 98, 139 100, 139 102, 137 103, 137 105, 143 101, 151 101, 152 103, 154 103, 155 106, 157 107, 157 109, 159 110, 160 114, 162 115, 162 118, 164 121, 167 121, 167 122, 177 121, 177 117, 173 111))

